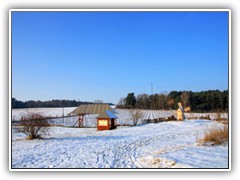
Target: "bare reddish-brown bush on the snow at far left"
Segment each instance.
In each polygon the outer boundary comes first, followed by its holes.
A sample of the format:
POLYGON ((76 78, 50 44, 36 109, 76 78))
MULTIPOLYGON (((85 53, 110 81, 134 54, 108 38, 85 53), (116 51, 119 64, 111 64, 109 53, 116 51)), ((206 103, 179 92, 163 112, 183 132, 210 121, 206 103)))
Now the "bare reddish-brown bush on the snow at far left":
POLYGON ((41 138, 49 130, 49 121, 41 113, 27 113, 21 118, 18 131, 26 134, 28 139, 41 138))

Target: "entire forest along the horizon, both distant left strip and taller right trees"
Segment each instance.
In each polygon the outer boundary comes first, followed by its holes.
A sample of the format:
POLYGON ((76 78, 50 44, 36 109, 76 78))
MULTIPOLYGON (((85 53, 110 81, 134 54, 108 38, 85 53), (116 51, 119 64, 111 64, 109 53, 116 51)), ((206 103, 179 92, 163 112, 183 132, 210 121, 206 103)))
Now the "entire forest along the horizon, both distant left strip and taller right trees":
MULTIPOLYGON (((153 109, 169 110, 178 109, 178 102, 183 107, 191 107, 192 112, 227 112, 228 90, 208 90, 201 92, 171 91, 160 94, 128 93, 121 98, 117 108, 129 109, 153 109)), ((77 107, 81 104, 94 104, 94 102, 82 102, 76 100, 51 100, 51 101, 19 101, 12 98, 12 108, 40 108, 40 107, 77 107)), ((113 105, 112 103, 106 103, 113 105)))

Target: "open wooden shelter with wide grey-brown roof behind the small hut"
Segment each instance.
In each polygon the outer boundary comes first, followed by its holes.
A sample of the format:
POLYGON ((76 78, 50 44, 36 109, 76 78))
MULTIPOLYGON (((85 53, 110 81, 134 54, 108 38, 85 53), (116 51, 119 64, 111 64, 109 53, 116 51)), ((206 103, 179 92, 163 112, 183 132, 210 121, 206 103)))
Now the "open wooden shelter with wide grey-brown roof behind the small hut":
POLYGON ((117 112, 112 109, 109 104, 82 104, 69 114, 78 115, 78 127, 83 127, 83 120, 86 114, 101 114, 106 110, 110 111, 112 114, 117 114, 117 112))

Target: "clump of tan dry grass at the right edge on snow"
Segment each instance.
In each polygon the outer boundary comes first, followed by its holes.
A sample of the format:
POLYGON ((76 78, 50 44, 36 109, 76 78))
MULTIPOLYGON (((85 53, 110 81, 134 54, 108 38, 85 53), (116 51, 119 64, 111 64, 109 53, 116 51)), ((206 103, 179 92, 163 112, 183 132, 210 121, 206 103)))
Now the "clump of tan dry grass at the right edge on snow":
POLYGON ((209 128, 203 138, 198 139, 200 144, 220 145, 228 141, 228 126, 209 128))

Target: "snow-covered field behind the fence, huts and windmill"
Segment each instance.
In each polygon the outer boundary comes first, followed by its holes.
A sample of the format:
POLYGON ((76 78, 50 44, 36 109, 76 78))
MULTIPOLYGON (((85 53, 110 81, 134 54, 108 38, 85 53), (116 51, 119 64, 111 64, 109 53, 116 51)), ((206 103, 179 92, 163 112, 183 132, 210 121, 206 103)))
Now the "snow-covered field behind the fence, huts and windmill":
MULTIPOLYGON (((67 108, 28 108, 28 109, 13 109, 12 110, 12 120, 18 121, 22 116, 26 115, 28 112, 41 113, 48 117, 53 117, 51 119, 51 124, 62 125, 62 126, 73 126, 78 116, 67 116, 76 107, 67 108), (62 117, 62 114, 67 117, 62 117)), ((132 125, 132 115, 128 109, 115 109, 118 114, 117 124, 118 125, 132 125)), ((167 117, 176 116, 176 111, 170 110, 141 110, 142 117, 139 119, 138 124, 144 124, 146 120, 155 119, 165 119, 167 117)), ((215 113, 185 113, 186 117, 189 119, 201 119, 202 117, 210 116, 211 119, 216 118, 215 113)), ((96 117, 98 114, 88 114, 84 116, 84 127, 96 127, 96 117)), ((222 113, 221 117, 227 118, 227 113, 222 113)), ((75 124, 77 126, 78 124, 75 124)))

